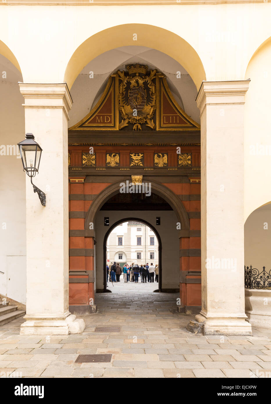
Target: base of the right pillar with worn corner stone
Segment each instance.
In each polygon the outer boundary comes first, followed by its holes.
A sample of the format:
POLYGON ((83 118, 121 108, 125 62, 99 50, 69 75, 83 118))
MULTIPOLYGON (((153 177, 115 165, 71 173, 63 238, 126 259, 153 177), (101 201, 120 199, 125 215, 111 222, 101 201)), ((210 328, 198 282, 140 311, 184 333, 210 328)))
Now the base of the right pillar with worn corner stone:
MULTIPOLYGON (((197 314, 195 322, 199 323, 197 329, 202 328, 203 335, 252 335, 251 325, 246 321, 245 317, 206 318, 202 314, 197 314), (200 327, 200 324, 202 324, 202 327, 200 327)), ((193 332, 191 323, 189 323, 187 329, 193 332)), ((200 331, 198 330, 199 333, 200 331)))

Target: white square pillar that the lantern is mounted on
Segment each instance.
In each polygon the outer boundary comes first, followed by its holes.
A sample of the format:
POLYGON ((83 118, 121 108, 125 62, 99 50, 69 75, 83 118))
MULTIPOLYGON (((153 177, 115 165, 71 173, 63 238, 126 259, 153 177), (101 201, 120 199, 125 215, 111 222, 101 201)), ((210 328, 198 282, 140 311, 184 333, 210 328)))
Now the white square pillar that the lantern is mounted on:
POLYGON ((46 194, 42 206, 26 175, 26 315, 21 335, 67 335, 84 330, 69 313, 67 84, 19 83, 25 98, 25 132, 42 148, 33 183, 46 194))

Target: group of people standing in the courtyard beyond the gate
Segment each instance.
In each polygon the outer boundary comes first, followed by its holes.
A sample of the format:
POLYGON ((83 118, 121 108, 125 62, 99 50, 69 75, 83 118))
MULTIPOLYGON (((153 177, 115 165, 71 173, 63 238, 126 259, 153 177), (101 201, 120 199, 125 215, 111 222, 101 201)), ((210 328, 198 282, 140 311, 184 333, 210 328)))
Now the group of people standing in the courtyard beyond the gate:
POLYGON ((149 265, 141 264, 140 266, 137 263, 132 262, 132 265, 128 265, 127 263, 124 264, 123 271, 120 266, 120 263, 116 263, 116 261, 111 261, 110 265, 106 265, 106 273, 108 279, 112 282, 120 282, 120 276, 123 273, 124 282, 135 282, 138 283, 139 277, 142 283, 158 282, 158 275, 159 275, 159 267, 156 264, 155 266, 153 263, 149 265))

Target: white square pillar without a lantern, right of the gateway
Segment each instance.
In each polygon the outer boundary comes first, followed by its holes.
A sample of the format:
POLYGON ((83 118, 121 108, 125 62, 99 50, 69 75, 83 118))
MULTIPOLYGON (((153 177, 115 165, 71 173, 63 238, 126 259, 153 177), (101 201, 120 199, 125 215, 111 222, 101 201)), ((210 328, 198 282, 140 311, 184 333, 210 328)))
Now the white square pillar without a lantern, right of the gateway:
POLYGON ((251 335, 244 289, 244 97, 249 80, 203 82, 202 311, 205 335, 251 335))

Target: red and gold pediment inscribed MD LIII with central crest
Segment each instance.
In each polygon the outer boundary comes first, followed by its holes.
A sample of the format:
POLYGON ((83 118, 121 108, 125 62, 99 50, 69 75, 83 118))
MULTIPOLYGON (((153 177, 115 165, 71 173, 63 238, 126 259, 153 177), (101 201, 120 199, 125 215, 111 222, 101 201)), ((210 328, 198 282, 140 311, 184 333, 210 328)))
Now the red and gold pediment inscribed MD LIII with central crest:
POLYGON ((175 101, 166 76, 147 65, 112 74, 99 102, 69 130, 200 130, 175 101))

